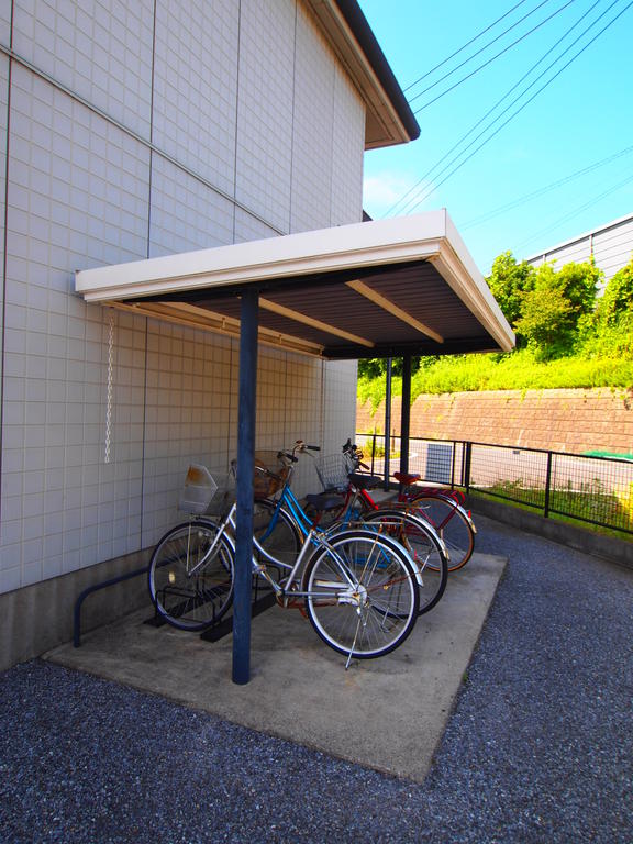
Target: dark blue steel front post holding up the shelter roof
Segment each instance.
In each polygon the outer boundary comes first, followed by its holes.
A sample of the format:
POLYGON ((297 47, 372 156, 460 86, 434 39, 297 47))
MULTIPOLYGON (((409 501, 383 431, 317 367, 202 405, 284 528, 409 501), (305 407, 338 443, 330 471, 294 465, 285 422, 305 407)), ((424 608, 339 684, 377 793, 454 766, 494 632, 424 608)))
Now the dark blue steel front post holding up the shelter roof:
POLYGON ((253 569, 253 473, 255 471, 255 402, 259 293, 242 296, 240 327, 240 398, 237 422, 237 514, 235 593, 233 597, 233 682, 251 679, 251 591, 253 569))

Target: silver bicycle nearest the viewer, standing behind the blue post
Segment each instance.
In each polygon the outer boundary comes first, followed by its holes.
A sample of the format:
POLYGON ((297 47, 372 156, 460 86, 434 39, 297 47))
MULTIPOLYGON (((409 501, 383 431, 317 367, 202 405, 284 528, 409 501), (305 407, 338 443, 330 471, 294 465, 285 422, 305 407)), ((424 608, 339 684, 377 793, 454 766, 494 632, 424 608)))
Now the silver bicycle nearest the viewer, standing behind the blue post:
MULTIPOLYGON (((201 476, 211 478, 204 467, 190 467, 190 481, 201 476)), ((156 611, 180 630, 215 624, 233 600, 236 503, 214 521, 202 514, 206 501, 163 536, 149 563, 156 611)), ((390 536, 367 529, 331 534, 308 529, 292 564, 256 536, 253 544, 253 575, 269 585, 281 607, 302 608, 323 642, 347 656, 346 668, 352 658, 390 653, 410 635, 418 618, 419 574, 390 536), (275 578, 273 568, 284 577, 275 578)))

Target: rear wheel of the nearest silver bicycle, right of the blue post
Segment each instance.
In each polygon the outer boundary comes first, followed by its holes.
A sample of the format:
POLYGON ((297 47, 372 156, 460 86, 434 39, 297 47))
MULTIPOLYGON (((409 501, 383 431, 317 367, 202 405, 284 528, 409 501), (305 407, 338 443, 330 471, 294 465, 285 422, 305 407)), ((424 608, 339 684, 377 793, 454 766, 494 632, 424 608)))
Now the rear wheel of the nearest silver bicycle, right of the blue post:
POLYGON ((359 659, 401 645, 418 617, 418 584, 407 553, 373 531, 331 536, 308 562, 303 591, 319 636, 359 659))

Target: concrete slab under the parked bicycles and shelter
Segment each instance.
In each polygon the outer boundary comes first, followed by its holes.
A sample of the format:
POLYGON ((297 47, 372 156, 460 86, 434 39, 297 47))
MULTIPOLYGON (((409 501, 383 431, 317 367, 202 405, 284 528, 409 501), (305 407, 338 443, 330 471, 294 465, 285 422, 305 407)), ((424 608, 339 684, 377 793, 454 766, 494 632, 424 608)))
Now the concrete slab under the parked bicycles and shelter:
POLYGON ((401 647, 348 670, 299 611, 278 607, 253 619, 246 686, 231 680, 231 635, 209 643, 153 628, 147 610, 44 658, 421 782, 504 567, 503 557, 475 554, 401 647))

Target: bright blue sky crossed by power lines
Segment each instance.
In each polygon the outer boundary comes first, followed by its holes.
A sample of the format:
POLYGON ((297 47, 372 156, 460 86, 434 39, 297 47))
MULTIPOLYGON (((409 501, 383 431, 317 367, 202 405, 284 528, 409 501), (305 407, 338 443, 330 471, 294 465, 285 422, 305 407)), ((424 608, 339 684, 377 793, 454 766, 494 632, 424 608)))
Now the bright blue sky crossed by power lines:
POLYGON ((529 258, 633 213, 633 0, 359 5, 421 109, 417 141, 365 155, 374 219, 446 208, 487 275, 507 249, 529 258))

